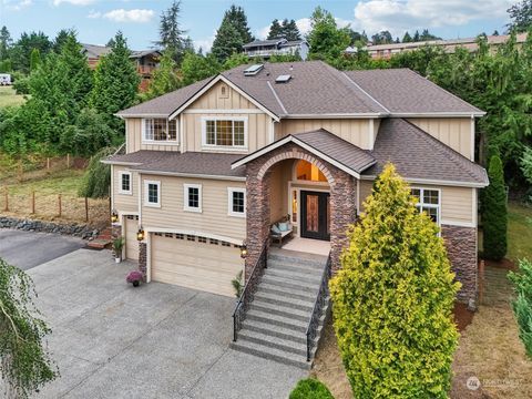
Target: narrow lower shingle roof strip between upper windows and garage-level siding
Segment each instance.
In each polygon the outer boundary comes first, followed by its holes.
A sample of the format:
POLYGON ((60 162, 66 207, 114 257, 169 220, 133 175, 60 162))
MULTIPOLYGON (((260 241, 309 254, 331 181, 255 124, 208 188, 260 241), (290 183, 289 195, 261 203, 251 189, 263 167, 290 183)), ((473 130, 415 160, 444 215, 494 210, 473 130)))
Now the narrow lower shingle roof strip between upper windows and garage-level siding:
POLYGON ((245 167, 231 168, 242 157, 238 154, 198 153, 141 150, 124 155, 113 155, 108 163, 132 164, 131 170, 164 172, 184 175, 245 177, 245 167))

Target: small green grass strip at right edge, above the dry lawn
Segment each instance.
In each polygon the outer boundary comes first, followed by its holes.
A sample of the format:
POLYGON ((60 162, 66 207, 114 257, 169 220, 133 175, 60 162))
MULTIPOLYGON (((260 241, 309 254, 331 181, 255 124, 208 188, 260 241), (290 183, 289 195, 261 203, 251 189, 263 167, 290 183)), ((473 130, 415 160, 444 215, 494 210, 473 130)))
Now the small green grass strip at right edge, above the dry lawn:
POLYGON ((532 259, 532 206, 510 203, 508 206, 508 258, 532 259))

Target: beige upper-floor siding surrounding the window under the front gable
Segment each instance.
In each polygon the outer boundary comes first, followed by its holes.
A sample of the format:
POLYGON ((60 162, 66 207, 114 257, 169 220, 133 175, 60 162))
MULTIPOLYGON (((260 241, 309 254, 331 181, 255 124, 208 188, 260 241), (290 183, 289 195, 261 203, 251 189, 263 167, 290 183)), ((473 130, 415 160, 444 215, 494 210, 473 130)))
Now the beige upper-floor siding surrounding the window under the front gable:
MULTIPOLYGON (((258 149, 264 147, 269 143, 269 132, 272 126, 272 117, 265 113, 185 113, 183 130, 185 132, 185 145, 184 151, 194 151, 194 152, 209 152, 209 151, 224 151, 223 149, 205 149, 202 147, 202 129, 203 129, 203 117, 215 116, 215 117, 244 117, 247 120, 247 150, 242 150, 243 154, 248 152, 254 152, 258 149)), ((231 151, 231 150, 229 150, 231 151)), ((231 151, 234 153, 234 151, 231 151)))

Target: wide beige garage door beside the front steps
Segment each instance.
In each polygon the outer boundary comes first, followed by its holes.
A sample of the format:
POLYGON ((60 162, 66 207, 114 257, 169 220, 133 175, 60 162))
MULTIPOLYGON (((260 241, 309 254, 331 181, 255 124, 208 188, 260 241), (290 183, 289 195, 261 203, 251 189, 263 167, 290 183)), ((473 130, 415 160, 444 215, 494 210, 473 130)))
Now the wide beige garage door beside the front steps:
POLYGON ((208 293, 234 296, 231 280, 244 267, 239 248, 182 234, 152 234, 151 277, 208 293))

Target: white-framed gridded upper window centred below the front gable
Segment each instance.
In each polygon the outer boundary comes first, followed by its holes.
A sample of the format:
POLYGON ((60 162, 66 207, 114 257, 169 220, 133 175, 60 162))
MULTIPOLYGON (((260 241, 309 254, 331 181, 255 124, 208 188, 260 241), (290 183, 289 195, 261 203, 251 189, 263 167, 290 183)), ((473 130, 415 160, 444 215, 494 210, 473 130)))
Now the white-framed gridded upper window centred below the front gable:
POLYGON ((203 120, 205 146, 244 149, 247 145, 247 120, 244 117, 203 120))

